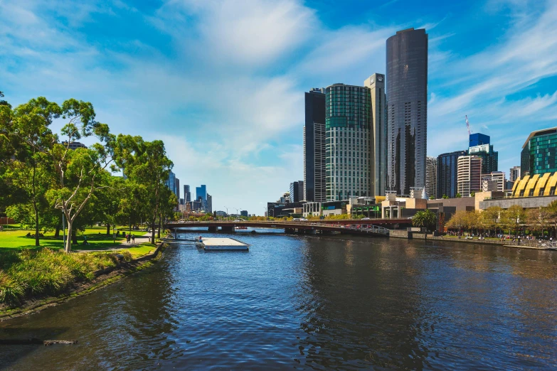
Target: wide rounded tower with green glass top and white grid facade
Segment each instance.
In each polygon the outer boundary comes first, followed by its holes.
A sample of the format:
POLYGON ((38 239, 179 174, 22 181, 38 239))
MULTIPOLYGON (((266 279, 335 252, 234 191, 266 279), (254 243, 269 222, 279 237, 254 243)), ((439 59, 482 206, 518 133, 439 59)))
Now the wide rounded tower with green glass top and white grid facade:
POLYGON ((371 91, 334 84, 325 99, 327 200, 371 196, 371 91))

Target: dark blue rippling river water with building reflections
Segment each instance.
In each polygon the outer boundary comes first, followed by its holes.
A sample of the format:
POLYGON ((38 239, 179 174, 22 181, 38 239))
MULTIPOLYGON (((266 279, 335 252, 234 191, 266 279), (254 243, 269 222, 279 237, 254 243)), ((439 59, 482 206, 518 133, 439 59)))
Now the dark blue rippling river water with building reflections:
POLYGON ((0 345, 1 368, 557 367, 557 252, 366 237, 233 237, 251 244, 250 252, 172 245, 154 267, 117 284, 1 322, 0 338, 79 340, 0 345))

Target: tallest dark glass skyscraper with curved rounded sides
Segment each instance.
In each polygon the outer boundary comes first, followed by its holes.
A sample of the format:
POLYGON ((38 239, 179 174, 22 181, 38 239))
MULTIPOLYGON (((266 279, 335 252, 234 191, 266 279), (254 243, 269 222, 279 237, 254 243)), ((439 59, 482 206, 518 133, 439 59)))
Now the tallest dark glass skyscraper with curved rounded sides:
POLYGON ((428 149, 428 34, 398 31, 387 39, 387 188, 410 194, 425 186, 428 149))

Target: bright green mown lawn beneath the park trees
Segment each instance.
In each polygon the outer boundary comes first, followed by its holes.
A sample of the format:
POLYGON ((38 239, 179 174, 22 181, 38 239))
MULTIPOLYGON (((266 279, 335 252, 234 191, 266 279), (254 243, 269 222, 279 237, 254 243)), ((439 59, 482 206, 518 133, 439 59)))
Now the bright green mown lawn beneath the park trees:
MULTIPOLYGON (((26 237, 27 233, 33 234, 32 230, 4 230, 0 232, 0 251, 6 249, 33 249, 35 248, 35 239, 33 237, 26 237)), ((83 233, 78 232, 78 244, 72 245, 72 249, 108 249, 110 247, 117 247, 124 241, 124 237, 116 239, 116 243, 112 240, 112 235, 106 235, 105 227, 93 227, 85 229, 87 242, 83 244, 83 233)), ((137 233, 139 235, 139 233, 137 233)), ((54 249, 63 248, 62 233, 58 240, 54 239, 54 232, 46 233, 45 237, 41 237, 41 247, 51 247, 54 249)))

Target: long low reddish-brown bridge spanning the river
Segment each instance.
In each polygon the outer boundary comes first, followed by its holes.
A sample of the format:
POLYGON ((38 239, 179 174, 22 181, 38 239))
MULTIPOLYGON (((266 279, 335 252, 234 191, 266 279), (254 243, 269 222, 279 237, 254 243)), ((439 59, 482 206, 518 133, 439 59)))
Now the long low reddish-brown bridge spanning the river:
POLYGON ((220 227, 223 232, 234 232, 236 227, 276 228, 284 229, 286 233, 333 233, 349 235, 388 236, 389 228, 408 227, 412 220, 408 219, 371 219, 371 220, 211 220, 206 222, 169 222, 164 225, 169 230, 193 227, 207 227, 209 232, 216 232, 220 227))

